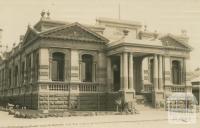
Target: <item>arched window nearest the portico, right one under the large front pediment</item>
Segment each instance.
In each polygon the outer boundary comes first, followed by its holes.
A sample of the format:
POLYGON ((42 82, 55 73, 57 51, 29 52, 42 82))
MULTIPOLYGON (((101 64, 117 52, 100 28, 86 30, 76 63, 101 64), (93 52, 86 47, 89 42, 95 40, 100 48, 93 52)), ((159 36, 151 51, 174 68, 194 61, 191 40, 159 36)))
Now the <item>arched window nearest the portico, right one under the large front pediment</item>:
POLYGON ((92 82, 93 56, 82 55, 81 78, 83 82, 92 82))

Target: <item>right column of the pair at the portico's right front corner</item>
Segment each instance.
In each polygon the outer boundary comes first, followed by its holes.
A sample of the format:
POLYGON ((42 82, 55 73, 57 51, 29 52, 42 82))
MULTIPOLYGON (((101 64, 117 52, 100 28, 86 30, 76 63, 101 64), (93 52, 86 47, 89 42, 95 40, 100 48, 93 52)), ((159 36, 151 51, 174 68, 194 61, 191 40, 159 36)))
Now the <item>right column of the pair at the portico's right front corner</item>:
POLYGON ((159 55, 159 90, 163 90, 163 63, 162 63, 162 56, 159 55))

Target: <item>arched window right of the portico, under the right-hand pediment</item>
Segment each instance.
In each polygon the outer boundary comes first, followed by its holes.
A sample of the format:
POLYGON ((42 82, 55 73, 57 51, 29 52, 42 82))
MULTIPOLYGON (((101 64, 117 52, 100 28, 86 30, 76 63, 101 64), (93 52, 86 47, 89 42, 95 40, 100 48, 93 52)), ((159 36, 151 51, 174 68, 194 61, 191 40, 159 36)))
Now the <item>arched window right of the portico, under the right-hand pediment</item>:
POLYGON ((172 83, 181 84, 181 65, 177 60, 172 61, 172 83))

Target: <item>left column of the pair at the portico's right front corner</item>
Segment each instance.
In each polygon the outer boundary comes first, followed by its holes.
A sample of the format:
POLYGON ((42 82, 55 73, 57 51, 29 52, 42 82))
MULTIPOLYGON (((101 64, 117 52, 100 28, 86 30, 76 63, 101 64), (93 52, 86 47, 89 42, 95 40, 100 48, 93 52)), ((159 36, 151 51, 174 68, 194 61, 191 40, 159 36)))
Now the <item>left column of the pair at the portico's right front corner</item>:
POLYGON ((154 91, 158 90, 158 59, 157 55, 154 55, 154 67, 153 67, 153 84, 154 91))

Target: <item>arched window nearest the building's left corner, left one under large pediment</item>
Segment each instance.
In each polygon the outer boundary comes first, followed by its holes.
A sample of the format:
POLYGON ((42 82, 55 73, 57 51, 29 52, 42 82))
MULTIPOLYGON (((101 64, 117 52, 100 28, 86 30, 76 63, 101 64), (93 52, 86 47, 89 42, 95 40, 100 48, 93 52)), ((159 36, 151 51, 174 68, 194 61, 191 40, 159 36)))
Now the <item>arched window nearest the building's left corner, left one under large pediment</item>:
POLYGON ((65 55, 63 53, 53 53, 52 81, 64 81, 64 57, 65 55))

